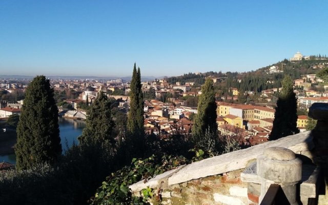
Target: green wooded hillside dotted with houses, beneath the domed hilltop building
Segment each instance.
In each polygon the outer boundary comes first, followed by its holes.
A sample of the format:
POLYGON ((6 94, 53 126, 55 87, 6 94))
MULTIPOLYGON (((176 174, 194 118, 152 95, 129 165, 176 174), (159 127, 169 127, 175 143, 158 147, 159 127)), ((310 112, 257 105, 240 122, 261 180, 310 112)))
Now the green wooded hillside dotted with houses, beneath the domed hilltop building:
MULTIPOLYGON (((309 59, 299 61, 281 60, 275 64, 259 68, 249 72, 206 72, 188 73, 181 76, 166 78, 168 83, 180 82, 182 85, 187 82, 194 82, 196 86, 204 83, 206 77, 226 77, 220 78, 217 84, 226 88, 237 88, 245 91, 261 92, 262 90, 281 87, 281 80, 288 74, 292 79, 300 78, 301 75, 316 74, 328 67, 328 58, 311 55, 309 59)), ((324 74, 324 73, 323 73, 324 74)))

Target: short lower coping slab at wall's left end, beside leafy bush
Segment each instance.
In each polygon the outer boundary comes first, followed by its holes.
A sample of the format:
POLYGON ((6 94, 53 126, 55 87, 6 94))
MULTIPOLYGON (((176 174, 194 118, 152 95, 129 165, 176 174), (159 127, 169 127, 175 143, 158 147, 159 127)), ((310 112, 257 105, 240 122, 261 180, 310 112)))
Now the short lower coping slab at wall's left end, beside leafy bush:
POLYGON ((163 186, 168 184, 168 177, 170 177, 172 174, 180 170, 181 168, 185 167, 185 165, 179 166, 174 170, 170 170, 167 172, 164 172, 162 174, 159 174, 155 176, 154 178, 151 178, 145 183, 145 180, 138 181, 137 183, 134 183, 133 185, 130 185, 129 188, 133 192, 141 191, 142 189, 145 189, 146 187, 149 188, 155 188, 159 187, 160 183, 163 183, 163 186))

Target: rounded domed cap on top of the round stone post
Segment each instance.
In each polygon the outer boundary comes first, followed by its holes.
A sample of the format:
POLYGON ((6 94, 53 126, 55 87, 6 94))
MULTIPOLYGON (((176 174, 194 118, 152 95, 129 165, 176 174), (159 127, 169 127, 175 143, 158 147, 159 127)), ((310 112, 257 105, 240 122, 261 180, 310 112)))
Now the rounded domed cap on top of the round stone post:
POLYGON ((295 153, 292 150, 282 147, 271 147, 264 150, 263 155, 269 159, 276 159, 280 161, 295 159, 295 153))

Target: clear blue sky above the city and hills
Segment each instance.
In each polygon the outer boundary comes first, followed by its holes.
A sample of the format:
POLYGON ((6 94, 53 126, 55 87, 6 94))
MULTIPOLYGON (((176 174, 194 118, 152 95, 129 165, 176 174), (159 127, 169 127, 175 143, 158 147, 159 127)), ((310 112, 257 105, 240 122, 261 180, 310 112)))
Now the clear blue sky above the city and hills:
POLYGON ((327 54, 328 1, 0 1, 0 74, 250 71, 327 54))

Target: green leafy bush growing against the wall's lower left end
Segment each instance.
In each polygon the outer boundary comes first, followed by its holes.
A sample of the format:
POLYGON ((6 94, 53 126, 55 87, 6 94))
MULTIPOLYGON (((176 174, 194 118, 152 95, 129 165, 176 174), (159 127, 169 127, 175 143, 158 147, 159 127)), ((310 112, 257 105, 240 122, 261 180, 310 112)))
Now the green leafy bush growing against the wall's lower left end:
POLYGON ((146 159, 132 159, 130 166, 125 166, 121 170, 112 173, 111 176, 106 178, 102 186, 97 189, 97 193, 91 198, 91 204, 130 204, 147 202, 148 197, 153 197, 152 190, 147 188, 142 190, 145 196, 134 197, 132 196, 129 186, 142 179, 145 181, 158 174, 168 170, 175 169, 176 167, 187 163, 188 160, 183 157, 162 156, 157 158, 154 155, 146 159))

